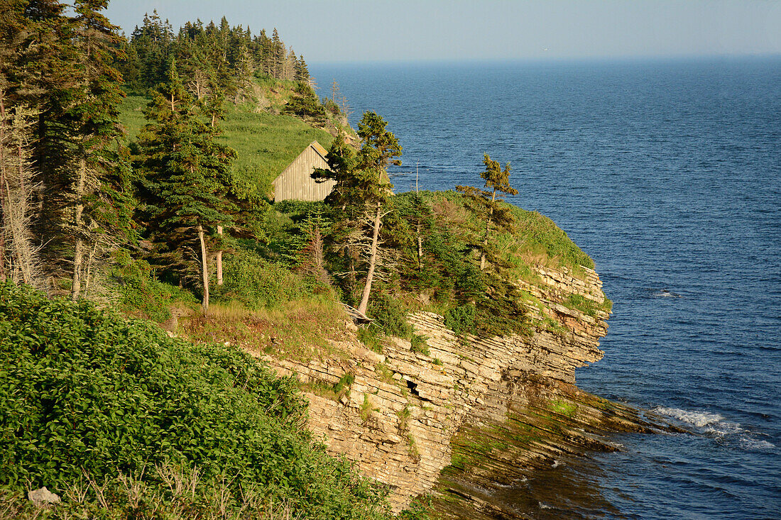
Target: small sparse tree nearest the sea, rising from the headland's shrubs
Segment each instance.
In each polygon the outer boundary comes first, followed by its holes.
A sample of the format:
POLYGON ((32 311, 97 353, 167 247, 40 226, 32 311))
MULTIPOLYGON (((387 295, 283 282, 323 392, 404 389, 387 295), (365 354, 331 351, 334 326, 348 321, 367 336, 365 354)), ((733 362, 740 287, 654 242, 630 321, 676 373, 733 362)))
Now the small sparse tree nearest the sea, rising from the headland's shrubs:
POLYGON ((486 252, 488 249, 488 239, 490 237, 491 226, 496 228, 506 228, 512 225, 512 215, 508 208, 503 208, 499 202, 505 198, 505 195, 517 195, 518 190, 510 186, 510 163, 501 169, 498 161, 494 161, 488 154, 483 155, 483 164, 486 169, 480 173, 486 183, 483 189, 473 186, 456 186, 455 189, 465 194, 472 201, 475 201, 478 207, 483 208, 486 215, 486 231, 483 235, 483 244, 480 247, 480 271, 485 270, 486 252))

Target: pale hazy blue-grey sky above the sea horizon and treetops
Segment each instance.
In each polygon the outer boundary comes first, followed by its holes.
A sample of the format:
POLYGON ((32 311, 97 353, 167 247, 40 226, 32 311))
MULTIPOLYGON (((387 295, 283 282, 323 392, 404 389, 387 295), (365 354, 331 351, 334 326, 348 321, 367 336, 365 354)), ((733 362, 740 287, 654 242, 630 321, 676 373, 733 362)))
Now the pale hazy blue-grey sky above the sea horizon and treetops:
POLYGON ((157 9, 274 27, 308 63, 781 54, 781 0, 112 0, 132 32, 157 9))

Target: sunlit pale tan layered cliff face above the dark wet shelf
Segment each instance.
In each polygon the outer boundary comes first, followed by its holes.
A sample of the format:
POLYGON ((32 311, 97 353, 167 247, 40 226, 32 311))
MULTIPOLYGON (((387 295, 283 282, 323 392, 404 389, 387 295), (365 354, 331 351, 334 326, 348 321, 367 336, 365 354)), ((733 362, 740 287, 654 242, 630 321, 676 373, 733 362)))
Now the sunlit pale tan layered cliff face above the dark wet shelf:
MULTIPOLYGON (((391 505, 400 511, 412 497, 437 485, 442 470, 451 465, 454 448, 465 442, 459 431, 506 424, 517 419, 519 406, 529 404, 547 409, 556 402, 563 411, 572 410, 569 401, 551 396, 578 393, 575 369, 601 359, 599 339, 607 332, 608 313, 597 310, 604 302, 601 281, 593 270, 583 270, 585 276, 578 277, 565 269, 538 267, 539 283, 521 283, 530 297, 527 306, 534 324, 528 336, 460 338, 444 326, 440 315, 419 312, 409 321, 415 333, 427 337, 427 354, 412 351, 408 341, 398 338, 378 354, 350 333, 348 340, 334 342, 344 353, 341 358, 306 364, 269 357, 266 361, 312 390, 306 394, 310 429, 330 453, 344 455, 364 475, 387 484, 391 505), (596 305, 584 312, 573 301, 596 305), (333 390, 342 386, 344 390, 333 390), (544 402, 533 397, 543 394, 544 402)), ((593 418, 605 413, 598 408, 589 408, 593 418)), ((623 420, 621 414, 609 414, 623 420)), ((592 438, 582 436, 586 443, 592 438)), ((551 449, 558 449, 555 444, 551 449)), ((513 460, 531 464, 533 458, 545 456, 542 449, 528 452, 526 459, 515 454, 513 460)), ((467 468, 465 460, 459 455, 456 467, 483 472, 487 478, 489 469, 475 464, 467 468)), ((437 490, 441 488, 440 483, 437 490)))

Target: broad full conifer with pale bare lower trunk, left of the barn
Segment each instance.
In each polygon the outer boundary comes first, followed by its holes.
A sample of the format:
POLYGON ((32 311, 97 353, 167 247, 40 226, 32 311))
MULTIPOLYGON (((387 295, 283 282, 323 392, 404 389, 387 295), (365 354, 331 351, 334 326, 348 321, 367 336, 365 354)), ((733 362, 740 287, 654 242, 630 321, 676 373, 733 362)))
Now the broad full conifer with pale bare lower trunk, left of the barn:
POLYGON ((209 252, 206 233, 230 224, 235 205, 230 190, 230 164, 235 152, 215 141, 216 130, 198 119, 175 64, 159 87, 145 116, 150 123, 139 136, 138 166, 150 238, 164 267, 180 276, 187 271, 186 251, 198 244, 203 289, 202 307, 209 309, 209 252))

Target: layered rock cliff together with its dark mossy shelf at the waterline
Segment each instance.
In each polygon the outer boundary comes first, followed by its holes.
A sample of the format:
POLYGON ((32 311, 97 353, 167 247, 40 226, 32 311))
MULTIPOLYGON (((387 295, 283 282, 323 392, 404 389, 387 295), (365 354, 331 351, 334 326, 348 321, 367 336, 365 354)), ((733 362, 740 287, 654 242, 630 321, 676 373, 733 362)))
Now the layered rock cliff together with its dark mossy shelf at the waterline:
POLYGON ((594 446, 595 428, 608 422, 638 427, 631 412, 574 386, 576 367, 602 357, 598 341, 607 331, 601 281, 584 272, 538 267, 536 283, 522 283, 528 336, 460 338, 440 315, 419 312, 409 321, 427 338, 425 354, 398 338, 379 354, 348 333, 334 344, 341 358, 267 360, 312 390, 312 431, 331 453, 390 486, 395 511, 434 490, 440 511, 469 518, 465 511, 484 508, 484 500, 464 483, 490 484, 557 451, 594 446))

